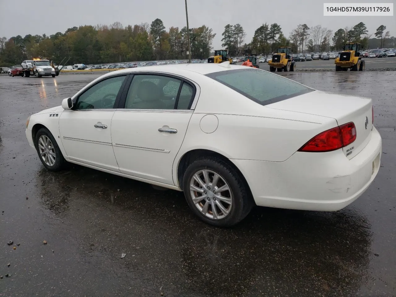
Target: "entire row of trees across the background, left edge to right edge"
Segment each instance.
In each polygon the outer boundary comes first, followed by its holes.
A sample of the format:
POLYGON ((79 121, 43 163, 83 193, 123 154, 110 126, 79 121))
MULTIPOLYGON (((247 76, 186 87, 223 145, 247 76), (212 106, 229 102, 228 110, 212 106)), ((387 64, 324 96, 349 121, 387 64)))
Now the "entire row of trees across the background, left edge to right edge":
MULTIPOLYGON (((206 25, 189 30, 192 58, 206 59, 212 53, 216 33, 206 25)), ((57 63, 70 57, 68 64, 188 59, 187 33, 187 27, 166 30, 162 20, 155 19, 151 24, 126 27, 119 22, 110 26, 72 27, 50 36, 2 37, 0 67, 18 65, 31 57, 48 57, 57 63)), ((345 42, 359 42, 364 49, 396 47, 396 38, 390 36, 386 26, 379 26, 373 34, 369 34, 363 22, 334 33, 321 25, 300 24, 286 38, 280 25, 264 23, 255 30, 251 42, 246 43, 243 27, 227 24, 221 34, 221 46, 228 49, 231 56, 268 55, 276 52, 278 46, 289 46, 294 53, 340 50, 345 42), (373 34, 375 38, 371 38, 373 34)))

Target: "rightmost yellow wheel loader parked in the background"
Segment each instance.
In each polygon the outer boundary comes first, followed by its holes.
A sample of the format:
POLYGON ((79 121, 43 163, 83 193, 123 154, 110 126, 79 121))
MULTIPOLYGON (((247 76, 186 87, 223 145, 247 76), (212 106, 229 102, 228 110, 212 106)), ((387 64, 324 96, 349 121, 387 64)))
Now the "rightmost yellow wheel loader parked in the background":
POLYGON ((366 61, 359 55, 360 43, 346 43, 340 56, 335 58, 335 71, 363 71, 366 61))

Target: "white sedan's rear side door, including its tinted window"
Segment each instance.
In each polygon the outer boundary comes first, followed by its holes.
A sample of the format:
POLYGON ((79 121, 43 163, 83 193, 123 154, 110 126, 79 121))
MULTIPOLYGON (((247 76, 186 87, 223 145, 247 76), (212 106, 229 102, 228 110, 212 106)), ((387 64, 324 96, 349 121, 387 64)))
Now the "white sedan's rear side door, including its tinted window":
POLYGON ((174 185, 173 161, 192 115, 194 88, 170 76, 133 76, 124 109, 115 112, 111 127, 122 173, 174 185))

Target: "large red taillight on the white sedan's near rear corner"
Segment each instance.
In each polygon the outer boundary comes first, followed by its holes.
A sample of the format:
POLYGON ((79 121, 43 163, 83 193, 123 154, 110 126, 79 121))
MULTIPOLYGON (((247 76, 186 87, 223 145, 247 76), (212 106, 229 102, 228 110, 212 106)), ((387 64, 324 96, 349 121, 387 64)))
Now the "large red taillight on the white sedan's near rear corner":
POLYGON ((316 135, 303 145, 299 152, 330 152, 350 145, 355 139, 356 127, 350 122, 316 135))

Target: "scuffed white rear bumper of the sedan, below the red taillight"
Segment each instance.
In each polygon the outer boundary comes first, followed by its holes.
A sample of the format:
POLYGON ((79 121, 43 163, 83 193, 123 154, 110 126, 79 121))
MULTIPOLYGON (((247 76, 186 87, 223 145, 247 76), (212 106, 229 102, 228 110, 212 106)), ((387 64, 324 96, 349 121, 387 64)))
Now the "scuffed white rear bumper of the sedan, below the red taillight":
POLYGON ((348 160, 342 150, 296 152, 284 162, 231 160, 258 206, 337 211, 356 200, 378 173, 382 140, 373 128, 366 147, 348 160))

